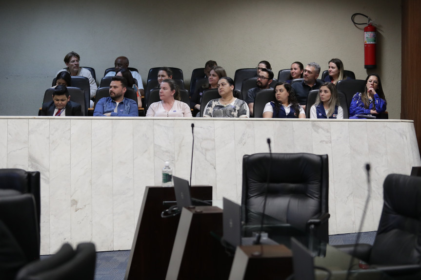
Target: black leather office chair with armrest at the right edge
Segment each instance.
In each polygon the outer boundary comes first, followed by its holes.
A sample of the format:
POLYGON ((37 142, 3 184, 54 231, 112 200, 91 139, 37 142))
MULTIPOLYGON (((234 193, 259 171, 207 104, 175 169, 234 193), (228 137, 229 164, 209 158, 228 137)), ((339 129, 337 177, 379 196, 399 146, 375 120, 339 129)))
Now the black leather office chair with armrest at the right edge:
MULTIPOLYGON (((394 279, 421 279, 420 198, 420 177, 389 174, 383 184, 383 210, 374 244, 357 244, 354 256, 394 279)), ((335 247, 354 252, 354 245, 335 247)))

